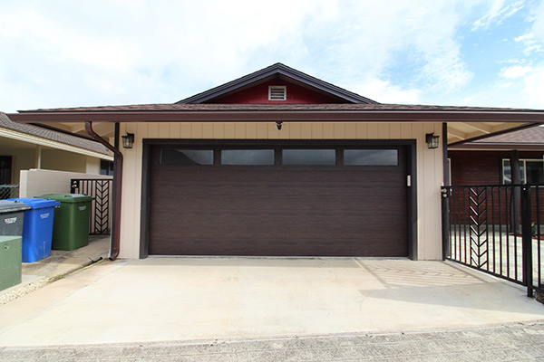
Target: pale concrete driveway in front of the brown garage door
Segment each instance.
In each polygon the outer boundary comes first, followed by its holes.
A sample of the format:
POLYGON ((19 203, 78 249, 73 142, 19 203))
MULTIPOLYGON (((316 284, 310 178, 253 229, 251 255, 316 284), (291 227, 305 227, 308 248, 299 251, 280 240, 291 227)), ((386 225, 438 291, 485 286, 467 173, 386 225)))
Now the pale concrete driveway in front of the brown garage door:
POLYGON ((544 319, 525 290, 452 262, 104 261, 0 306, 1 346, 477 327, 544 319))

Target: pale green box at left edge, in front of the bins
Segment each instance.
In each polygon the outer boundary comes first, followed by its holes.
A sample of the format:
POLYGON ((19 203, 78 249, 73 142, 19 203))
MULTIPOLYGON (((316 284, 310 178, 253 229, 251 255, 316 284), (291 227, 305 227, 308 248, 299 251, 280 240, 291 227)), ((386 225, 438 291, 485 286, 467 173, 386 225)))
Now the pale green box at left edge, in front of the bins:
POLYGON ((21 283, 21 236, 0 236, 0 291, 21 283))

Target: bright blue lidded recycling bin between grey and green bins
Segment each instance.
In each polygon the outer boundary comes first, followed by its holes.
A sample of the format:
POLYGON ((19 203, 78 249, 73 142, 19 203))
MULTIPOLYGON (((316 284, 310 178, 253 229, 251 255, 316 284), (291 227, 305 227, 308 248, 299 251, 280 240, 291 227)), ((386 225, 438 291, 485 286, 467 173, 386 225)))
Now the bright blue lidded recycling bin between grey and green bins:
POLYGON ((30 206, 24 212, 22 261, 37 262, 50 256, 54 208, 61 203, 43 198, 23 197, 10 200, 30 206))

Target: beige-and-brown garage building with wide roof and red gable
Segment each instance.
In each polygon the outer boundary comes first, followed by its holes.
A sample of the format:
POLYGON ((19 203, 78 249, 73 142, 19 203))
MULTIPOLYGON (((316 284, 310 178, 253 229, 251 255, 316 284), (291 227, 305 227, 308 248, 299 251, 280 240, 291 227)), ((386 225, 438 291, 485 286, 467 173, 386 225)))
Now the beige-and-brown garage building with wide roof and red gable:
POLYGON ((115 152, 112 258, 441 260, 447 143, 544 122, 542 110, 381 104, 281 63, 172 104, 9 116, 84 123, 115 152), (93 125, 108 122, 133 144, 102 139, 93 125))

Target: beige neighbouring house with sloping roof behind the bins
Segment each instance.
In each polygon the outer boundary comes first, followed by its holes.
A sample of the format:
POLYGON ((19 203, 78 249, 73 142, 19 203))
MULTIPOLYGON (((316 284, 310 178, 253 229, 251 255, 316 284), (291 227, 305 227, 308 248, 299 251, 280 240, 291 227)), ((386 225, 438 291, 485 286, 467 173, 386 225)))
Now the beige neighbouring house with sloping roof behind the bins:
POLYGON ((15 123, 0 112, 0 185, 17 185, 20 171, 30 168, 112 175, 112 160, 92 139, 15 123))

